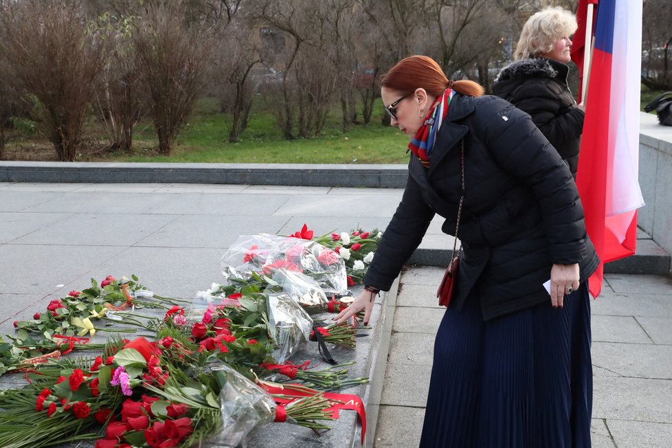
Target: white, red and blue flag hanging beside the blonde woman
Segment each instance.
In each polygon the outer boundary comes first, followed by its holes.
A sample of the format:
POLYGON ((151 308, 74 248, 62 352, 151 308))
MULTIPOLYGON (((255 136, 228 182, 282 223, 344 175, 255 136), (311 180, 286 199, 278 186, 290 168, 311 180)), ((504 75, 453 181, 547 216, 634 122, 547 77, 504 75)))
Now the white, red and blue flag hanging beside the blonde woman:
MULTIPOLYGON (((587 3, 579 1, 579 13, 587 3)), ((576 186, 602 262, 636 249, 637 209, 644 205, 638 182, 641 54, 642 2, 599 0, 576 186)), ((602 281, 600 265, 589 280, 594 298, 602 281)))

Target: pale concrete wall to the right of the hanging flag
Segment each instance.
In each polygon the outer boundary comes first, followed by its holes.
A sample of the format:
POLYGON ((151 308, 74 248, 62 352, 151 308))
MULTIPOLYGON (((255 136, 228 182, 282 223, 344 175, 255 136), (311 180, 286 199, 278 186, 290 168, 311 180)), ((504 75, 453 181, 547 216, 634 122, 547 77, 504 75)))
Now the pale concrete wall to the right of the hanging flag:
POLYGON ((637 222, 672 254, 672 126, 642 112, 639 138, 639 183, 646 205, 639 209, 637 222))

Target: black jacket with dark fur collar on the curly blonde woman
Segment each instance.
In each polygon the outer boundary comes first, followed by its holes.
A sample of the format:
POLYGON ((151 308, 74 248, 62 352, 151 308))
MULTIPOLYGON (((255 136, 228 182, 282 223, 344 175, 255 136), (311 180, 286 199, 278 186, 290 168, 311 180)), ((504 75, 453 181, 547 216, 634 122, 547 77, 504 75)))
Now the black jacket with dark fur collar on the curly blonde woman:
POLYGON ((584 113, 567 86, 568 73, 556 60, 518 60, 500 71, 493 93, 530 114, 576 179, 584 113))

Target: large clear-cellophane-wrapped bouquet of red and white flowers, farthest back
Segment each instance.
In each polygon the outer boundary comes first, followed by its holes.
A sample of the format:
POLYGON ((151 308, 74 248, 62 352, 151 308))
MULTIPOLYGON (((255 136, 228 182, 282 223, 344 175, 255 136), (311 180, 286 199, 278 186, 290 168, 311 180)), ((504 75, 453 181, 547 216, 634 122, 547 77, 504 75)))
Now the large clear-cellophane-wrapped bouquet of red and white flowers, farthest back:
POLYGON ((304 273, 324 293, 341 293, 348 288, 344 260, 313 240, 269 234, 240 236, 221 258, 222 274, 249 278, 251 273, 272 275, 277 269, 304 273))

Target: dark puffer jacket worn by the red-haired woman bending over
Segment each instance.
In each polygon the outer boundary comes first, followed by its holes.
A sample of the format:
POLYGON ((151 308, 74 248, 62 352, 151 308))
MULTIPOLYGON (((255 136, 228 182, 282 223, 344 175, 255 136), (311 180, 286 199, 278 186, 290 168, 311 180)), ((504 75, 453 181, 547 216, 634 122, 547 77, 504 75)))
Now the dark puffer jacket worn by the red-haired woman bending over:
POLYGON ((598 257, 587 239, 574 179, 530 116, 495 96, 456 95, 427 169, 411 157, 403 199, 385 230, 365 284, 390 289, 434 213, 455 232, 464 138, 464 245, 451 306, 477 288, 485 320, 550 301, 542 286, 554 263, 579 263, 581 282, 598 257))

